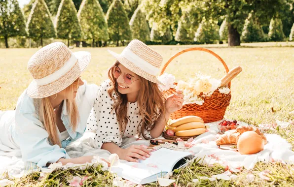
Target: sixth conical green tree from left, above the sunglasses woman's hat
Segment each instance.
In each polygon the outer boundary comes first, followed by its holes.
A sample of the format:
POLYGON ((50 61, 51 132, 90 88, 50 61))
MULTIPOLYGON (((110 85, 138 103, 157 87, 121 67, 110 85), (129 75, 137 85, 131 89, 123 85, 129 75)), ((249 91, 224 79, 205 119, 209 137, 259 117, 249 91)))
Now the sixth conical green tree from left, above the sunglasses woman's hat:
POLYGON ((133 39, 139 39, 144 42, 150 40, 150 31, 146 15, 141 11, 140 7, 134 12, 130 20, 130 27, 133 33, 133 39))

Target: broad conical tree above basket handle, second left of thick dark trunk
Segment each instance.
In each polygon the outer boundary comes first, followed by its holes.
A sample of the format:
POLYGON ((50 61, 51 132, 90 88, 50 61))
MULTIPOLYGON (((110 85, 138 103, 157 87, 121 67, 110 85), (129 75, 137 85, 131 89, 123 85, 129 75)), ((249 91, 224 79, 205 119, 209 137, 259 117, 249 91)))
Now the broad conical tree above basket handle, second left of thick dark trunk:
POLYGON ((218 22, 204 18, 195 33, 194 41, 200 43, 216 43, 218 40, 220 40, 218 22))

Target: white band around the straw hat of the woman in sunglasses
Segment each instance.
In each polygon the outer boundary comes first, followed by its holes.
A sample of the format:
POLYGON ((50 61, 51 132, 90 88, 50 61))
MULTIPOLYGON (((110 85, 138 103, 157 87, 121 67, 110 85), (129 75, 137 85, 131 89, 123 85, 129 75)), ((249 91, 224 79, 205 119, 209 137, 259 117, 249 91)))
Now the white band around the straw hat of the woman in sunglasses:
POLYGON ((141 59, 138 55, 133 53, 128 47, 126 47, 120 54, 122 57, 126 58, 130 62, 133 62, 134 65, 140 69, 146 71, 150 75, 156 76, 159 72, 159 68, 153 66, 152 64, 146 62, 144 59, 141 59))

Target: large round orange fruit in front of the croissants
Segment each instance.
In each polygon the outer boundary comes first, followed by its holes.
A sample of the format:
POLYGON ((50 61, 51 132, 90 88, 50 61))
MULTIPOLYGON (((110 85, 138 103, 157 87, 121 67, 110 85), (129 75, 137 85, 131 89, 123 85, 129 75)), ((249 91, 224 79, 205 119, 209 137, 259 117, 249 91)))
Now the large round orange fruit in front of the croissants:
POLYGON ((256 154, 263 150, 262 138, 254 131, 247 131, 240 135, 237 148, 241 155, 256 154))

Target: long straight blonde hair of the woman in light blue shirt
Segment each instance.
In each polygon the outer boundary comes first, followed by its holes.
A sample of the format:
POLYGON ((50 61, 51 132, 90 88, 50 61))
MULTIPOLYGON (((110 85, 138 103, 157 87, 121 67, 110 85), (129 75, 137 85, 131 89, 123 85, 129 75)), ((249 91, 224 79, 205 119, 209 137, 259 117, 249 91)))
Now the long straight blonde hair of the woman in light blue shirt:
MULTIPOLYGON (((78 82, 74 82, 72 85, 65 89, 65 94, 73 94, 74 90, 78 87, 78 82)), ((72 97, 74 98, 74 97, 72 97)), ((70 126, 75 131, 79 123, 79 113, 75 99, 65 99, 67 111, 70 116, 70 126)), ((52 145, 59 145, 61 147, 61 141, 58 137, 58 127, 56 125, 56 115, 54 113, 52 104, 49 97, 41 99, 40 106, 40 121, 43 123, 45 130, 48 132, 49 141, 52 145)))

